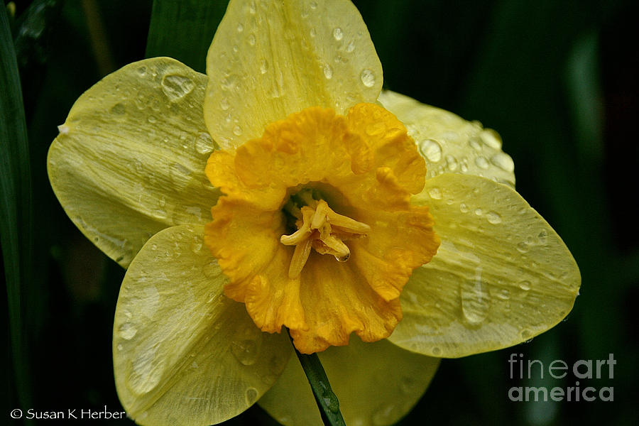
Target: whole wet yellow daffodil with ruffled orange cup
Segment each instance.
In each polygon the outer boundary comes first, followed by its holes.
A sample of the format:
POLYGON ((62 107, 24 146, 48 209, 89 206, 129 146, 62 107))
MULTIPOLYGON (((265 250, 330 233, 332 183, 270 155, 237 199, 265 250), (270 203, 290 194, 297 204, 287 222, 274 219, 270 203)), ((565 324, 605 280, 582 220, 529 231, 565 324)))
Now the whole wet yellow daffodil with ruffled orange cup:
POLYGON ((321 351, 347 423, 388 425, 439 358, 571 310, 577 265, 513 189, 499 136, 381 86, 349 1, 231 0, 207 75, 153 58, 77 100, 49 176, 128 268, 113 354, 136 422, 207 425, 258 401, 318 424, 287 327, 321 351))

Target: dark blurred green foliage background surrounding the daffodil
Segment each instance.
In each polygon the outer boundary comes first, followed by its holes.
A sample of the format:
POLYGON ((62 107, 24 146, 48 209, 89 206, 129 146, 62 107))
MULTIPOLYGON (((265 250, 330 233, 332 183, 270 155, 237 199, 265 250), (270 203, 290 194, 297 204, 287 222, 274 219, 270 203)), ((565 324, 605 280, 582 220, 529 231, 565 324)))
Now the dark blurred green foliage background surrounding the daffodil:
MULTIPOLYGON (((444 360, 400 424, 635 425, 639 226, 633 199, 639 194, 639 148, 631 126, 639 111, 639 55, 624 46, 636 39, 637 3, 355 3, 388 89, 479 119, 501 133, 515 160, 518 191, 562 236, 583 280, 574 310, 550 332, 511 349, 444 360), (511 402, 511 386, 566 388, 574 386, 574 377, 510 379, 510 353, 568 364, 614 354, 613 379, 580 383, 613 386, 614 401, 511 402)), ((34 0, 16 2, 9 16, 31 158, 30 171, 19 173, 30 174, 35 212, 34 263, 23 285, 21 319, 30 349, 20 359, 7 351, 10 408, 21 404, 17 390, 24 388, 33 407, 42 410, 120 409, 111 322, 124 271, 66 217, 50 189, 45 160, 56 126, 75 99, 108 72, 146 53, 176 55, 202 70, 197 40, 146 46, 150 27, 152 33, 165 30, 169 41, 179 31, 154 22, 154 7, 151 0, 34 0), (16 382, 22 376, 12 362, 31 370, 31 379, 21 379, 27 383, 16 382)), ((224 6, 217 2, 213 9, 221 12, 224 6)), ((3 67, 5 62, 3 57, 3 67)), ((256 423, 273 421, 258 407, 229 421, 256 423)))

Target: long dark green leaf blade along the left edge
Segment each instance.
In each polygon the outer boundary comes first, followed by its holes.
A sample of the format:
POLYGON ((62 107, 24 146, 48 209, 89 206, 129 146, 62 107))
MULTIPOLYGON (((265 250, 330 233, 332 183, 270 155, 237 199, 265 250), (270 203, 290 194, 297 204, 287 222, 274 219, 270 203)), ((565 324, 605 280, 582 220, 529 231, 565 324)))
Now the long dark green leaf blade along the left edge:
POLYGON ((18 62, 6 11, 0 11, 0 241, 6 280, 9 333, 19 403, 31 406, 23 313, 32 271, 31 167, 18 62))

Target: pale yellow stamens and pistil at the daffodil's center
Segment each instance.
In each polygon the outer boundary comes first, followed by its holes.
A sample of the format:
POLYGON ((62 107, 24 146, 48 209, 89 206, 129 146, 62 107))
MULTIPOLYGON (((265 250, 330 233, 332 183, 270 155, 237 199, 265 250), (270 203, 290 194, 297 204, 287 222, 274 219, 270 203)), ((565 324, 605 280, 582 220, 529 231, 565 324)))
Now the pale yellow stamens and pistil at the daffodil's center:
POLYGON ((312 190, 302 190, 290 197, 285 212, 295 219, 297 231, 280 237, 285 246, 295 246, 288 268, 288 277, 300 276, 311 249, 320 254, 332 254, 337 261, 349 260, 351 251, 344 244, 349 239, 366 236, 371 226, 334 212, 321 196, 312 190))

